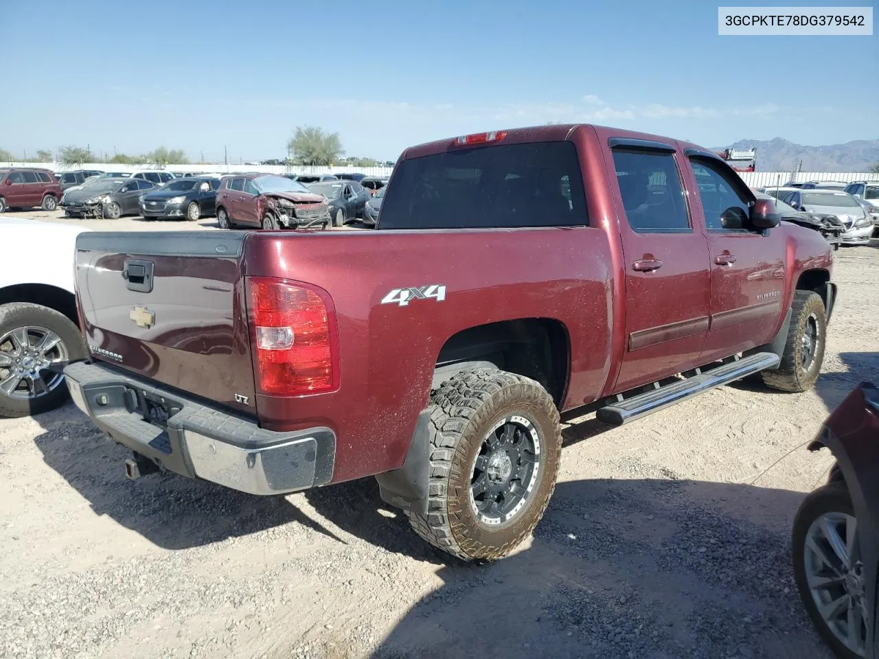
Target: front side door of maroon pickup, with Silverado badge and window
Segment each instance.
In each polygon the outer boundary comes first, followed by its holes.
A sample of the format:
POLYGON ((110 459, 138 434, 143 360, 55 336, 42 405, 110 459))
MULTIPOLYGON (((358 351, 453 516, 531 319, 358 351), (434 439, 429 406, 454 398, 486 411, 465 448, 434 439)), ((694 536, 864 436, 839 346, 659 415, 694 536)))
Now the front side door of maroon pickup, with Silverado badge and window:
POLYGON ((690 156, 708 231, 711 312, 701 360, 769 343, 785 297, 784 235, 749 229, 752 197, 726 163, 690 156))

